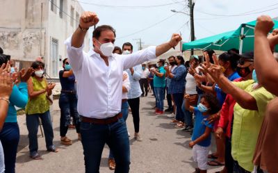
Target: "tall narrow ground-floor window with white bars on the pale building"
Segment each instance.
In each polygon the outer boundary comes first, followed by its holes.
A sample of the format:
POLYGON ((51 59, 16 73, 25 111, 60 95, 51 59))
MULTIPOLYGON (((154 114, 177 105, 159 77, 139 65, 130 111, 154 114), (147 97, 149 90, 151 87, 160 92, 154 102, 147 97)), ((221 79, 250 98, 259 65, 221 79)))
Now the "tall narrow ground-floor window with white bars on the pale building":
POLYGON ((58 76, 58 40, 55 38, 51 38, 51 76, 58 76))

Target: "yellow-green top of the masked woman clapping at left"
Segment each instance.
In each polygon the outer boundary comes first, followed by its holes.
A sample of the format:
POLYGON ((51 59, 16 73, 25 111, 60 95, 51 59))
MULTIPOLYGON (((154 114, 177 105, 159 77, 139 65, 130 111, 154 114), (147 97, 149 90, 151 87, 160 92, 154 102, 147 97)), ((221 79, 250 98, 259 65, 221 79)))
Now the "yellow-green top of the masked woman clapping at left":
MULTIPOLYGON (((31 77, 33 82, 33 91, 40 91, 47 88, 47 80, 43 79, 38 81, 35 77, 31 77)), ((37 97, 28 98, 28 103, 26 105, 26 115, 32 115, 36 113, 45 113, 49 110, 49 102, 47 100, 47 92, 44 92, 37 97)))

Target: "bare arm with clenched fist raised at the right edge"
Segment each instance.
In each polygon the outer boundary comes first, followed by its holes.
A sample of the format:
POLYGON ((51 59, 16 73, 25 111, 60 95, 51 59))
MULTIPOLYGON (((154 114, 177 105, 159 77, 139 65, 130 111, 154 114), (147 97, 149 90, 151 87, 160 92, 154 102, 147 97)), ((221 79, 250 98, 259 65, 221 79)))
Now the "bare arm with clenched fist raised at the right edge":
POLYGON ((272 94, 278 95, 278 63, 272 53, 278 37, 276 34, 270 40, 267 38, 273 26, 271 17, 258 17, 254 31, 254 65, 259 83, 272 94))

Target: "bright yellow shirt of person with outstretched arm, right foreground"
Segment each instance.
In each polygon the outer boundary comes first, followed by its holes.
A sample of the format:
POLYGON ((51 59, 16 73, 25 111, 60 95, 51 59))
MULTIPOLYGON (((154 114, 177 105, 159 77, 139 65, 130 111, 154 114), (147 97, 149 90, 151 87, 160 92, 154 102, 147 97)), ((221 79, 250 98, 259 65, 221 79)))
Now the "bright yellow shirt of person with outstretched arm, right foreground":
POLYGON ((254 165, 252 159, 256 147, 256 142, 263 122, 268 101, 275 98, 265 88, 261 87, 253 90, 253 80, 234 83, 251 94, 256 99, 258 110, 247 110, 239 104, 234 106, 234 126, 231 136, 231 155, 238 161, 240 167, 252 172, 254 165))

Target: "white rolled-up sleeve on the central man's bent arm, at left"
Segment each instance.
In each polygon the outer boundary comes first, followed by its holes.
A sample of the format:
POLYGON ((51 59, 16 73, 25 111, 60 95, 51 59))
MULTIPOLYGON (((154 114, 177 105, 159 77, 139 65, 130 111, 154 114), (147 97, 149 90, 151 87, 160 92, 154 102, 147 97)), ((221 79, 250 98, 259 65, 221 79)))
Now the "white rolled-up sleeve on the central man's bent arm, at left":
POLYGON ((79 48, 72 47, 72 37, 70 37, 65 40, 65 45, 67 46, 67 57, 69 58, 69 63, 72 66, 74 72, 77 72, 79 69, 81 69, 83 64, 84 44, 82 44, 82 46, 79 48))

